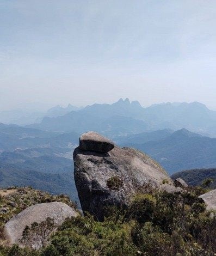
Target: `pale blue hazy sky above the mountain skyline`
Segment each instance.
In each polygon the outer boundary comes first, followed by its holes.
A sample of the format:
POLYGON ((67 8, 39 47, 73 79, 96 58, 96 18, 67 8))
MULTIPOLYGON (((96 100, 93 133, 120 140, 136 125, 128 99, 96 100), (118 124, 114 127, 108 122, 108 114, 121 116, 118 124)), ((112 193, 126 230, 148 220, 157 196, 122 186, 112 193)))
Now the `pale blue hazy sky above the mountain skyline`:
POLYGON ((215 28, 215 0, 0 0, 0 111, 120 97, 216 109, 215 28))

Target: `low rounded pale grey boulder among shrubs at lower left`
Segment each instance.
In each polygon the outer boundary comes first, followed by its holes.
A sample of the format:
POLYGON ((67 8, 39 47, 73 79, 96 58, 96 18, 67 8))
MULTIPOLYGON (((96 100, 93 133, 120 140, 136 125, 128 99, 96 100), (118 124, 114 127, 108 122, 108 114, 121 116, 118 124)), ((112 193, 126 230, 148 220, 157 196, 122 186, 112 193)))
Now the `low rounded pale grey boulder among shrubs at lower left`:
POLYGON ((10 245, 13 243, 21 245, 20 239, 26 225, 30 226, 33 222, 40 223, 47 217, 51 217, 55 223, 61 224, 67 217, 72 216, 77 216, 77 212, 61 202, 35 204, 11 218, 4 226, 4 235, 10 245))

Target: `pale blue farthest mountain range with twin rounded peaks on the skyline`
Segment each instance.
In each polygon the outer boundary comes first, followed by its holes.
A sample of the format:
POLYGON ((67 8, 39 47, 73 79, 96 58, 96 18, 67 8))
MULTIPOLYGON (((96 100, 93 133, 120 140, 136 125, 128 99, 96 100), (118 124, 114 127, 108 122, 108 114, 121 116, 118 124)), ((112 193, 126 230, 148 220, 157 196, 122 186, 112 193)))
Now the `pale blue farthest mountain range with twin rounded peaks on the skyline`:
POLYGON ((94 130, 108 134, 131 133, 182 128, 216 137, 216 111, 199 102, 164 103, 143 108, 138 101, 120 99, 111 105, 94 104, 60 117, 45 117, 34 127, 48 131, 79 133, 94 130))

